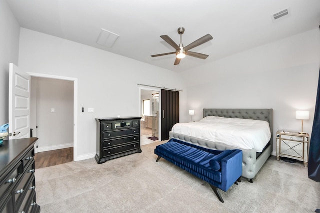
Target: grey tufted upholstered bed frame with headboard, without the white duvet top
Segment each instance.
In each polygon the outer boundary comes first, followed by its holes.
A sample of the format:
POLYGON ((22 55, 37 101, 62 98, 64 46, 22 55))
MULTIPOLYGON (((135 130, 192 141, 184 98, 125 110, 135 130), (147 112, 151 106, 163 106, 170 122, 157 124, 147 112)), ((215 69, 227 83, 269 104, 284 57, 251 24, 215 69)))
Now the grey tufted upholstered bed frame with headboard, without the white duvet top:
MULTIPOLYGON (((214 138, 210 140, 208 137, 194 137, 196 134, 192 134, 192 128, 189 132, 184 131, 184 134, 169 132, 169 138, 175 138, 181 141, 192 143, 201 147, 226 150, 226 149, 241 149, 242 150, 242 177, 249 179, 252 183, 252 179, 255 177, 257 172, 261 169, 265 161, 268 159, 272 152, 272 109, 203 109, 203 118, 207 116, 217 116, 224 118, 240 118, 240 119, 251 119, 265 121, 269 125, 270 139, 266 142, 266 145, 261 149, 261 145, 258 148, 239 148, 234 144, 225 144, 219 139, 214 138), (186 133, 187 132, 187 133, 186 133), (193 136, 191 136, 193 135, 193 136), (215 141, 217 140, 217 141, 215 141)), ((236 120, 236 119, 235 119, 236 120)), ((192 123, 192 122, 191 122, 192 123)), ((187 126, 192 126, 189 123, 185 123, 187 126)), ((177 124, 180 125, 180 124, 177 124)), ((251 135, 251 134, 247 134, 251 135)))

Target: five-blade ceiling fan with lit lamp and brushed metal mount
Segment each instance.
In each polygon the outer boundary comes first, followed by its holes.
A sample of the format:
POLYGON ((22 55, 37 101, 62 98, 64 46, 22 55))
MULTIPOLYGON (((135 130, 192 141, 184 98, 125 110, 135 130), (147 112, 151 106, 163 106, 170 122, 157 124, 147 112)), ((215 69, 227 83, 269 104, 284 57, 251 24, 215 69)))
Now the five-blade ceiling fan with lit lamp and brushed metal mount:
POLYGON ((176 58, 175 58, 175 61, 174 61, 174 65, 179 64, 180 63, 180 59, 184 58, 185 55, 189 55, 189 56, 196 57, 196 58, 201 58, 201 59, 207 58, 208 55, 205 55, 205 54, 202 54, 202 53, 198 53, 198 52, 191 52, 191 51, 189 51, 189 49, 192 49, 192 48, 194 48, 196 46, 199 46, 199 45, 211 40, 212 36, 210 34, 206 34, 203 37, 200 37, 199 39, 193 41, 189 45, 183 47, 183 44, 182 44, 182 34, 183 34, 183 32, 184 32, 184 28, 183 27, 179 27, 178 28, 178 33, 180 34, 180 43, 179 43, 179 45, 177 45, 169 36, 160 35, 160 37, 165 42, 170 44, 175 49, 175 52, 167 52, 167 53, 162 53, 162 54, 151 55, 151 57, 157 57, 157 56, 169 55, 169 54, 174 54, 175 53, 176 58))

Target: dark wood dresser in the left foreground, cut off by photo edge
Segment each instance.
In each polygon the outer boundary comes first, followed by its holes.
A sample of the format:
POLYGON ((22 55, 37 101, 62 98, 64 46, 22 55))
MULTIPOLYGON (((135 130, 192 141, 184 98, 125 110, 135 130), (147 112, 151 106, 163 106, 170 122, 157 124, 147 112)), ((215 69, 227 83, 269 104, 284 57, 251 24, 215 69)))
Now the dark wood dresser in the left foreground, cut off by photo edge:
POLYGON ((0 213, 39 213, 35 200, 34 148, 37 138, 0 145, 0 213))

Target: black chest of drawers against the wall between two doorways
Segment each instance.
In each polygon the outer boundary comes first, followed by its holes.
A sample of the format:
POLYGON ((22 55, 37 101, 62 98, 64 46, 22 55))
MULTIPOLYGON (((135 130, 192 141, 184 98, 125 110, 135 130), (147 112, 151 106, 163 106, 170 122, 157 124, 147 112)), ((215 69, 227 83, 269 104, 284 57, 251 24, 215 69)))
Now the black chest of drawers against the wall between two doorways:
POLYGON ((141 117, 96 118, 98 164, 132 153, 140 153, 141 117))

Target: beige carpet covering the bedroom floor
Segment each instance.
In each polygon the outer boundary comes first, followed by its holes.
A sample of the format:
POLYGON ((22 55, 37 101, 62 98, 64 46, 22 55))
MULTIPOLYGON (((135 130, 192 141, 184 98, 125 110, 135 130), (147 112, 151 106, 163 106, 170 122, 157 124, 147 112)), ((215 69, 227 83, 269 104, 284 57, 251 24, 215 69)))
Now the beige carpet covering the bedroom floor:
POLYGON ((69 162, 35 171, 41 213, 313 213, 320 208, 320 183, 302 163, 271 156, 253 184, 245 179, 220 203, 209 185, 164 159, 154 147, 113 159, 69 162))

